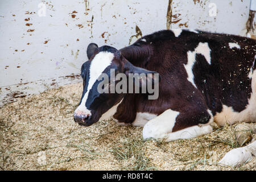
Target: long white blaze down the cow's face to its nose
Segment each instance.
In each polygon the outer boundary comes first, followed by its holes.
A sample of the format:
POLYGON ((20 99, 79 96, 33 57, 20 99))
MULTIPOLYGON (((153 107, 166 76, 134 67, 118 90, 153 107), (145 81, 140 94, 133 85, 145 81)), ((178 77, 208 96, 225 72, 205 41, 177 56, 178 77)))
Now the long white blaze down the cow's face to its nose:
POLYGON ((88 110, 85 106, 85 102, 88 98, 88 94, 90 89, 92 89, 93 84, 96 82, 97 78, 100 77, 101 73, 108 67, 114 58, 114 54, 111 52, 99 52, 93 58, 92 63, 90 63, 90 75, 89 75, 89 83, 87 87, 87 92, 84 94, 82 98, 81 104, 75 110, 77 114, 92 114, 90 110, 88 110))

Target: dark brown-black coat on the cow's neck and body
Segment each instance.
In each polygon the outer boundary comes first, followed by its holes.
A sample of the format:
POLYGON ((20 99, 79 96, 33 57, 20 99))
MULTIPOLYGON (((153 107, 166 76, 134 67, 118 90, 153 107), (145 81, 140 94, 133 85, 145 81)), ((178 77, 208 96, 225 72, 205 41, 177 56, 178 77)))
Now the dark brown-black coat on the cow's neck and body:
MULTIPOLYGON (((143 36, 141 39, 120 51, 137 67, 162 75, 159 98, 150 101, 144 100, 140 95, 130 96, 136 97, 136 102, 129 106, 129 110, 154 114, 161 114, 167 109, 179 111, 175 130, 180 130, 198 123, 207 123, 207 109, 210 109, 213 115, 220 113, 224 104, 233 107, 235 111, 245 109, 251 94, 251 81, 247 78, 247 69, 253 66, 255 40, 203 31, 197 34, 188 30, 183 30, 178 37, 172 31, 164 30, 143 36), (145 39, 146 42, 142 42, 141 39, 145 39), (200 42, 208 43, 211 64, 208 64, 203 55, 196 55, 192 69, 197 86, 195 88, 187 80, 184 64, 188 61, 187 52, 194 51, 200 42), (241 49, 230 49, 230 42, 238 43, 241 49)), ((123 110, 125 109, 118 110, 118 113, 123 110)), ((122 113, 122 118, 130 118, 130 114, 122 113)))

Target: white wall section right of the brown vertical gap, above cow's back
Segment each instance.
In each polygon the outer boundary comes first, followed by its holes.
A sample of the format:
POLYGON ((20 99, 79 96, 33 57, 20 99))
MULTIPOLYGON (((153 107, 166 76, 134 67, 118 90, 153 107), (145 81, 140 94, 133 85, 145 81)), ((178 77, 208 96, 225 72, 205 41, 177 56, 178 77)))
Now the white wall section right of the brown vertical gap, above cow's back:
POLYGON ((246 35, 250 0, 174 0, 172 2, 172 15, 178 16, 176 19, 172 18, 172 20, 181 19, 172 27, 179 27, 179 24, 187 23, 190 28, 246 35), (214 16, 215 8, 217 10, 216 16, 214 16))

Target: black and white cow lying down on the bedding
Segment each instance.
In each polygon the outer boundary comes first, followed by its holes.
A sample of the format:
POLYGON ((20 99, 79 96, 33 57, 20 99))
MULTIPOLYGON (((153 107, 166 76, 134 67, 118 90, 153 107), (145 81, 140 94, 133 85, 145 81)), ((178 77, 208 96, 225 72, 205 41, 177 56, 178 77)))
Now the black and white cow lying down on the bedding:
MULTIPOLYGON (((90 43, 75 122, 90 126, 113 118, 119 125, 143 127, 144 139, 165 142, 209 134, 213 122, 256 122, 255 44, 242 36, 184 29, 154 32, 119 50, 90 43), (127 76, 158 73, 158 98, 99 93, 98 78, 110 69, 127 76)), ((256 155, 256 142, 246 147, 230 151, 220 163, 236 166, 256 155)))

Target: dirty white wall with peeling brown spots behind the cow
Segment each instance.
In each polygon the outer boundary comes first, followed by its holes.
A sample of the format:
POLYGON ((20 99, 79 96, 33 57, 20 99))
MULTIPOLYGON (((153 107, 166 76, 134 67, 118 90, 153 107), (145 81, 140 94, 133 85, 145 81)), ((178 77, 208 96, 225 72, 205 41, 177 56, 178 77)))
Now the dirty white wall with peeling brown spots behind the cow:
POLYGON ((249 9, 250 0, 1 0, 0 106, 81 81, 90 42, 122 48, 166 28, 245 36, 249 9))

